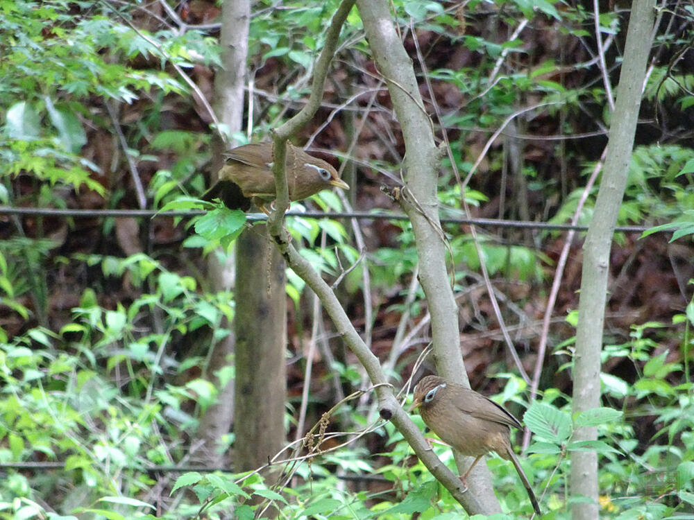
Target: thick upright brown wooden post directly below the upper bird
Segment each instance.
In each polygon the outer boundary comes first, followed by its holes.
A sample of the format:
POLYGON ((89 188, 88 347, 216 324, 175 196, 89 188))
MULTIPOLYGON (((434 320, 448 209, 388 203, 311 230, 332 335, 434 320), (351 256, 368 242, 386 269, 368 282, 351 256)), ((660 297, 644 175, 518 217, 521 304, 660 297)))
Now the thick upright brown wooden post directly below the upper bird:
POLYGON ((285 261, 265 229, 236 245, 235 471, 266 464, 285 442, 285 261))

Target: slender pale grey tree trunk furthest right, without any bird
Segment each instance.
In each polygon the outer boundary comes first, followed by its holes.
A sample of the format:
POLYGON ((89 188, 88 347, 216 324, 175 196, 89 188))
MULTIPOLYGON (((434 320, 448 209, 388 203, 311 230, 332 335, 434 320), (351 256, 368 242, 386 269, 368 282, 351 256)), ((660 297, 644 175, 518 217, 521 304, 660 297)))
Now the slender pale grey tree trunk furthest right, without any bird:
MULTIPOLYGON (((607 158, 595 202, 593 220, 584 243, 581 297, 578 309, 576 354, 573 368, 573 412, 600 406, 600 351, 607 295, 609 252, 617 214, 627 183, 634 132, 641 105, 646 63, 651 48, 655 0, 634 0, 629 18, 617 101, 609 131, 607 158)), ((594 427, 575 428, 574 440, 595 440, 594 427)), ((571 452, 570 489, 575 520, 598 518, 598 455, 595 451, 571 452)))

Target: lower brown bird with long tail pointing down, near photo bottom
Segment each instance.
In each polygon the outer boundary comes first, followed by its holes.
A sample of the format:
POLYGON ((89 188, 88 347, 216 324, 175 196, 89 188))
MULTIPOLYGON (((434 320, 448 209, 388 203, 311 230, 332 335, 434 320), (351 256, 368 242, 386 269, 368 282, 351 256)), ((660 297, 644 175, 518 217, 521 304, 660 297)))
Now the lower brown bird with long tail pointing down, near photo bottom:
POLYGON ((462 385, 449 383, 439 376, 426 376, 414 388, 414 401, 409 410, 419 408, 424 423, 463 455, 475 457, 468 471, 460 478, 467 488, 467 478, 475 464, 490 451, 513 462, 532 507, 540 506, 525 476, 525 471, 511 447, 511 426, 522 428, 518 419, 502 406, 462 385))

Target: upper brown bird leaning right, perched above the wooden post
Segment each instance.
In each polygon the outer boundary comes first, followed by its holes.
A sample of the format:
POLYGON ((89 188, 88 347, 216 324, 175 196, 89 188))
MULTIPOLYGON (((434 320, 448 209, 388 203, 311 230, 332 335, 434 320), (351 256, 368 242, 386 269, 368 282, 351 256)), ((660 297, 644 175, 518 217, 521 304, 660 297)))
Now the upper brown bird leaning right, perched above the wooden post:
MULTIPOLYGON (((256 143, 225 152, 226 164, 219 170, 219 181, 203 195, 203 200, 219 198, 226 207, 244 211, 252 203, 269 214, 265 205, 276 198, 272 150, 272 143, 256 143)), ((290 143, 287 143, 286 173, 292 202, 330 187, 349 189, 328 162, 308 155, 290 143)))

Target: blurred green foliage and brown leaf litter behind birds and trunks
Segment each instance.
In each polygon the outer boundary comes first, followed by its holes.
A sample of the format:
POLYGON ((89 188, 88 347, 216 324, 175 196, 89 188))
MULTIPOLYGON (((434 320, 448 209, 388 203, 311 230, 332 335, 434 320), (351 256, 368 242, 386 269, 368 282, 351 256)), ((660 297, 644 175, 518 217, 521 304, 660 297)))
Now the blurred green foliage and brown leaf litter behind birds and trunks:
MULTIPOLYGON (((611 85, 618 80, 628 4, 599 2, 611 85)), ((255 1, 251 131, 235 136, 239 141, 266 137, 301 108, 336 7, 335 0, 255 1)), ((464 216, 457 180, 473 172, 464 192, 473 216, 568 222, 609 126, 593 3, 393 0, 391 7, 437 137, 450 145, 439 178, 441 216, 464 216)), ((213 177, 212 120, 190 84, 211 100, 220 65, 219 13, 211 0, 0 0, 3 205, 160 208, 203 193, 213 177)), ((575 418, 600 426, 600 441, 586 447, 570 440, 580 243, 570 250, 557 297, 541 397, 530 404, 502 346, 469 229, 444 227, 471 383, 499 395, 518 416, 527 410, 534 442, 524 465, 548 517, 568 517, 566 453, 572 449, 600 453, 605 517, 666 518, 691 514, 694 505, 693 20, 691 6, 676 1, 659 9, 619 224, 674 223, 682 232, 675 241, 668 234, 616 236, 602 383, 605 406, 619 413, 575 418), (675 480, 648 487, 650 478, 663 475, 675 480)), ((398 183, 405 150, 357 10, 344 29, 319 115, 301 138, 336 166, 331 153, 354 162, 352 207, 398 209, 388 193, 398 183)), ((596 193, 588 194, 579 223, 589 222, 596 193)), ((305 205, 344 207, 332 193, 305 205)), ((286 487, 257 474, 185 471, 196 460, 190 440, 198 418, 217 396, 205 379, 210 346, 229 333, 221 324, 234 315, 232 291, 218 291, 204 275, 203 253, 226 253, 209 236, 192 234, 189 223, 3 214, 0 517, 262 517, 264 503, 246 501, 252 494, 286 518, 459 517, 456 503, 402 437, 379 422, 369 395, 340 406, 314 447, 292 445, 295 455, 313 456, 287 465, 286 487), (369 434, 356 435, 362 430, 369 434)), ((287 225, 326 277, 359 258, 349 220, 297 216, 287 225)), ((365 257, 342 282, 340 297, 399 387, 428 343, 412 230, 406 221, 375 218, 358 226, 365 257)), ((482 260, 530 372, 539 362, 541 316, 566 234, 512 227, 482 227, 480 234, 482 260)), ((288 275, 287 438, 301 439, 295 411, 303 385, 310 385, 311 425, 342 396, 365 388, 366 379, 327 321, 311 337, 312 298, 301 279, 288 275), (309 381, 305 352, 316 339, 309 381)), ((219 375, 228 381, 233 370, 219 375)), ((232 433, 225 442, 233 448, 232 433)), ((452 463, 448 449, 435 449, 452 463)), ((504 510, 511 517, 529 512, 510 465, 492 458, 489 467, 504 510)))

